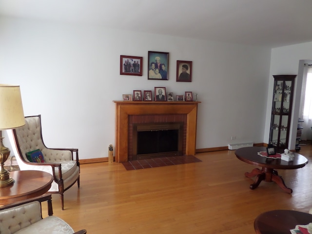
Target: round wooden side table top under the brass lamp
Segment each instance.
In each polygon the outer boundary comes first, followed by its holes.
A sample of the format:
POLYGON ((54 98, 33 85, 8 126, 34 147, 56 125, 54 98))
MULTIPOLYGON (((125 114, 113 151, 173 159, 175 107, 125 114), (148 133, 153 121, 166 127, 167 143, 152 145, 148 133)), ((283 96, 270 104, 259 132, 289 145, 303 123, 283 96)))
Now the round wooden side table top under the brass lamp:
POLYGON ((13 171, 14 184, 0 188, 0 205, 36 197, 48 192, 53 176, 41 171, 13 171))

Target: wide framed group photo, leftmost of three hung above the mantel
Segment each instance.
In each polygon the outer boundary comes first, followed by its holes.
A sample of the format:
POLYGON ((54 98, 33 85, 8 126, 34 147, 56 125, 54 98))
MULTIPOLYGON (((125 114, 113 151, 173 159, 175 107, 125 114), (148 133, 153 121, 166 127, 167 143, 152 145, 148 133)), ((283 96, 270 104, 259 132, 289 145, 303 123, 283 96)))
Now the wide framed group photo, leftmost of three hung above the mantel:
POLYGON ((142 76, 143 57, 120 55, 120 75, 142 76))

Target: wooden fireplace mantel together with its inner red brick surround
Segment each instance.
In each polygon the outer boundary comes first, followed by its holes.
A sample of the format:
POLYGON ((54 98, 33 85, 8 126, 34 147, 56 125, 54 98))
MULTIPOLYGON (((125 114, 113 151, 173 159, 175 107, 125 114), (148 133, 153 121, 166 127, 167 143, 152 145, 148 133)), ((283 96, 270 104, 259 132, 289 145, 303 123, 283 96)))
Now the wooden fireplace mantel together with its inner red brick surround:
MULTIPOLYGON (((190 101, 114 101, 115 102, 115 159, 116 162, 131 160, 131 125, 134 122, 184 122, 183 154, 195 155, 197 105, 190 101), (130 130, 129 130, 130 129, 130 130), (130 141, 130 142, 129 142, 130 141)), ((131 135, 132 136, 132 135, 131 135)))

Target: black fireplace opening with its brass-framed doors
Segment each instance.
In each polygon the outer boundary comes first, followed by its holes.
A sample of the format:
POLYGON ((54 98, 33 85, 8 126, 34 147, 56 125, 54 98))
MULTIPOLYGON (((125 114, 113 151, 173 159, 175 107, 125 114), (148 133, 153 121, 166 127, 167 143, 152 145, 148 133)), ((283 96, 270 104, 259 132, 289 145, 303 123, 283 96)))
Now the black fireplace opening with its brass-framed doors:
POLYGON ((132 140, 132 160, 181 156, 183 122, 135 123, 132 140))

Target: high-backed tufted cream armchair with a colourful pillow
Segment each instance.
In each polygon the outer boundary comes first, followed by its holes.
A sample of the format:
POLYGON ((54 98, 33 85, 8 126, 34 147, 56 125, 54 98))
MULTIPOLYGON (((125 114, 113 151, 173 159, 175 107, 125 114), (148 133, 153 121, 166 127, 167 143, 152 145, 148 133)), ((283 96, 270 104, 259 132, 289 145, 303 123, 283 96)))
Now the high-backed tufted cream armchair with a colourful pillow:
POLYGON ((80 186, 78 149, 47 148, 42 139, 41 116, 25 117, 25 122, 24 126, 12 130, 16 146, 14 151, 17 151, 14 153, 20 170, 37 170, 50 173, 54 177, 54 181, 48 192, 59 193, 63 210, 63 193, 73 186, 76 181, 78 188, 80 186), (34 158, 31 158, 29 153, 36 150, 37 158, 32 160, 34 158), (75 160, 74 152, 76 153, 75 160))

